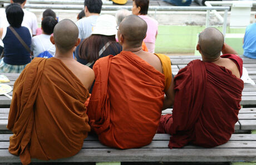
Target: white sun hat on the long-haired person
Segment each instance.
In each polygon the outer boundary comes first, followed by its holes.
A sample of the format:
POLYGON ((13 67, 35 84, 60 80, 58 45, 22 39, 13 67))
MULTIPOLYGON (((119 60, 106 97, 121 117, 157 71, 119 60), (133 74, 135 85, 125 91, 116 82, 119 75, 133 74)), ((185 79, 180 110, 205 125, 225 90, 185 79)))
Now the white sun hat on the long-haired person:
POLYGON ((116 18, 109 14, 103 14, 97 18, 91 34, 116 35, 116 18))

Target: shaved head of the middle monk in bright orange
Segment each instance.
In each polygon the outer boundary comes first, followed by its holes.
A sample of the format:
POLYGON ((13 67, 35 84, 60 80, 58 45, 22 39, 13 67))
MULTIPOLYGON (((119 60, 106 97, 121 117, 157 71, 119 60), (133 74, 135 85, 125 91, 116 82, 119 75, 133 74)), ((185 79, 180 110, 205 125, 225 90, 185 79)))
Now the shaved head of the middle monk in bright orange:
POLYGON ((141 47, 142 41, 146 37, 147 23, 139 16, 127 16, 120 23, 119 30, 124 35, 127 45, 141 47))

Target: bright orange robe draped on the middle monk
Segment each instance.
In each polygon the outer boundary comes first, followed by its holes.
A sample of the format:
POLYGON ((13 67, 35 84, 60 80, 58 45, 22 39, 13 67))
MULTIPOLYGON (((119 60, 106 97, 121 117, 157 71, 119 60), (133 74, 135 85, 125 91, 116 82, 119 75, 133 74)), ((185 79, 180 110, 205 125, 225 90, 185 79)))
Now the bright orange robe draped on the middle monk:
POLYGON ((93 70, 87 112, 100 142, 122 149, 148 145, 161 117, 165 75, 131 51, 100 58, 93 70))

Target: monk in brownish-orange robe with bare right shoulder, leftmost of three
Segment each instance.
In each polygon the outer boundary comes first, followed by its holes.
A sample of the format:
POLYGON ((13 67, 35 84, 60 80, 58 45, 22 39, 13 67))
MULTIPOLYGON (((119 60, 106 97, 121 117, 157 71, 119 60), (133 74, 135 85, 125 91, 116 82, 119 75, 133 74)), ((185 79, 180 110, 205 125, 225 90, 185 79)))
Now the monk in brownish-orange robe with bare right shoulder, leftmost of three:
POLYGON ((14 83, 7 128, 13 132, 9 152, 23 164, 75 155, 90 131, 84 102, 93 70, 73 59, 80 43, 71 20, 59 22, 51 42, 54 58, 35 58, 14 83), (85 76, 86 75, 86 76, 85 76))

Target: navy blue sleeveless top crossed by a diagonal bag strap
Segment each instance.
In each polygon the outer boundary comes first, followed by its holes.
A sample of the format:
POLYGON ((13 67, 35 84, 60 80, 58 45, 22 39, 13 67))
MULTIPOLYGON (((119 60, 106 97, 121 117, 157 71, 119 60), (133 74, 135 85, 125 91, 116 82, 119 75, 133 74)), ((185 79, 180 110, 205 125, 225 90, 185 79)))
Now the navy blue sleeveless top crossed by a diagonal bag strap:
MULTIPOLYGON (((14 28, 14 27, 13 27, 14 28)), ((31 46, 31 34, 28 28, 19 27, 14 28, 23 41, 30 48, 31 46)), ((3 38, 4 44, 4 58, 3 61, 9 65, 25 65, 31 62, 30 53, 19 42, 16 35, 14 35, 11 29, 7 28, 6 35, 3 38)))

